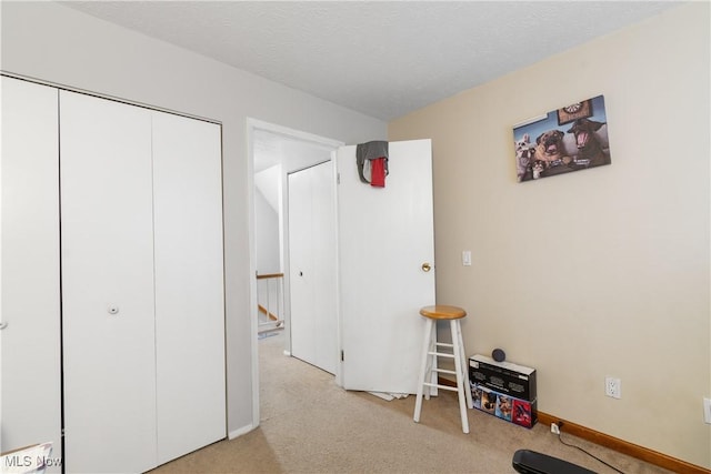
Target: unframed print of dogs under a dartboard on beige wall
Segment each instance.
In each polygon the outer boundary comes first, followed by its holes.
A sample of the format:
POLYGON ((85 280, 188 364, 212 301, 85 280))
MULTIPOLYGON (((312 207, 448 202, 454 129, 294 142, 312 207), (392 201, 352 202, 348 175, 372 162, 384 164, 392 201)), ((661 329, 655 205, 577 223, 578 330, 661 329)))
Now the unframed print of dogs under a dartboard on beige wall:
POLYGON ((513 127, 519 182, 610 164, 602 95, 562 107, 513 127))

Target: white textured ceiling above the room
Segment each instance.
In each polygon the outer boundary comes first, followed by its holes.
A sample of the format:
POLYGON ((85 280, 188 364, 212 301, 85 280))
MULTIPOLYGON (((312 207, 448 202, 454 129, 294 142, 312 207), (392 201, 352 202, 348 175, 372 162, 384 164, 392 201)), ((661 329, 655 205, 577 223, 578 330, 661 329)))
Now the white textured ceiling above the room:
POLYGON ((71 1, 77 10, 391 120, 674 1, 71 1))

